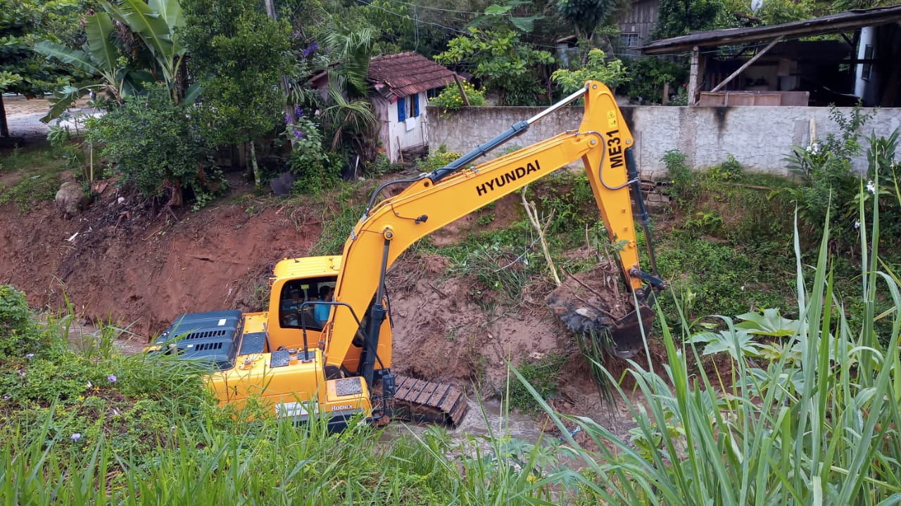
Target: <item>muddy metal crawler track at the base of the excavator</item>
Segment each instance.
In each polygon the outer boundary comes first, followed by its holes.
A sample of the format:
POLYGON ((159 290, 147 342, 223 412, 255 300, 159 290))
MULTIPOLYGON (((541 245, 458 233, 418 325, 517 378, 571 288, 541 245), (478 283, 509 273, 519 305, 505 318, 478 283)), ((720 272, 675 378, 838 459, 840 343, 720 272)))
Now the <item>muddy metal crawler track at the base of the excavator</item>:
POLYGON ((392 418, 456 427, 469 411, 460 388, 407 376, 396 376, 392 418))

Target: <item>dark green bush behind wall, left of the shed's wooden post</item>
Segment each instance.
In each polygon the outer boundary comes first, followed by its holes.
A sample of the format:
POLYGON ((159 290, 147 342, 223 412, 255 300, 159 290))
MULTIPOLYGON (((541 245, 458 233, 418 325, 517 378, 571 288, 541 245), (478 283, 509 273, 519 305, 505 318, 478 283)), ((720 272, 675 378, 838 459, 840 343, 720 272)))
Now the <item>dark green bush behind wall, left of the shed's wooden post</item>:
POLYGON ((684 59, 677 62, 645 56, 624 62, 626 73, 632 78, 618 89, 633 100, 642 98, 646 103, 660 104, 664 83, 669 83, 670 93, 677 93, 688 82, 688 65, 684 59))

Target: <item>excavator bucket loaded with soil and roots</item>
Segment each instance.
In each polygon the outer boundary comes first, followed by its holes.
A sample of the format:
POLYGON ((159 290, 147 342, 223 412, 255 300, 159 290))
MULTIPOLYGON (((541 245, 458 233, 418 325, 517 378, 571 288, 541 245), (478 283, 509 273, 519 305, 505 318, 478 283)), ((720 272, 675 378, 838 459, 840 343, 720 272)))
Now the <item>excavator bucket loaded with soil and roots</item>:
POLYGON ((548 294, 545 303, 569 330, 597 339, 609 336, 604 343, 609 351, 617 357, 632 357, 644 347, 642 330, 651 328, 655 314, 646 303, 635 307, 633 294, 620 283, 614 264, 598 264, 569 276, 548 294))

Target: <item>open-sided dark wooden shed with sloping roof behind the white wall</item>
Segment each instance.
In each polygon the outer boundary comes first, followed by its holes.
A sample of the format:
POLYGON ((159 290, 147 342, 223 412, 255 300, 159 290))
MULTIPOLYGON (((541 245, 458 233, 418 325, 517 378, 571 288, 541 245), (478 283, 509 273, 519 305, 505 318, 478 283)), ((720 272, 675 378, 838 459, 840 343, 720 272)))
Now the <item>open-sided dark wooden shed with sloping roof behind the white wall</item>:
MULTIPOLYGON (((856 56, 856 58, 853 58, 853 56, 851 59, 840 58, 837 60, 836 67, 839 61, 843 64, 857 64, 860 67, 858 79, 860 79, 863 67, 870 66, 868 77, 871 77, 872 68, 877 68, 879 73, 878 82, 869 86, 869 88, 872 88, 870 95, 881 95, 882 100, 873 100, 872 102, 876 103, 869 105, 895 106, 898 98, 901 97, 901 94, 896 92, 898 87, 901 86, 901 66, 897 65, 896 62, 896 55, 901 50, 899 21, 901 21, 901 5, 893 5, 890 7, 848 11, 793 23, 690 33, 681 37, 653 41, 643 46, 641 50, 646 55, 674 54, 689 51, 691 68, 688 81, 688 103, 696 105, 701 98, 701 92, 704 91, 709 54, 715 53, 722 48, 730 48, 737 50, 738 55, 746 55, 749 51, 754 51, 759 45, 766 44, 762 49, 756 50, 750 59, 722 81, 715 85, 714 83, 706 83, 706 87, 715 93, 729 85, 735 77, 739 77, 746 72, 748 68, 751 68, 755 62, 758 62, 774 47, 784 43, 783 41, 814 35, 839 33, 842 34, 842 37, 850 46, 849 50, 854 51, 852 55, 856 56), (865 27, 877 27, 880 29, 880 32, 873 38, 874 45, 870 45, 866 53, 863 47, 860 47, 860 51, 858 51, 860 30, 866 29, 865 27), (851 37, 848 34, 851 34, 851 37), (877 43, 878 41, 881 42, 877 43), (879 48, 880 45, 881 48, 879 48)), ((779 68, 778 76, 792 77, 790 70, 792 60, 785 60, 785 62, 780 61, 777 63, 778 66, 786 67, 779 68)), ((772 89, 772 85, 769 86, 770 88, 765 91, 803 91, 772 89)), ((863 96, 867 87, 866 85, 856 86, 855 90, 864 90, 857 96, 863 96)), ((840 90, 840 93, 851 95, 853 91, 840 90)))

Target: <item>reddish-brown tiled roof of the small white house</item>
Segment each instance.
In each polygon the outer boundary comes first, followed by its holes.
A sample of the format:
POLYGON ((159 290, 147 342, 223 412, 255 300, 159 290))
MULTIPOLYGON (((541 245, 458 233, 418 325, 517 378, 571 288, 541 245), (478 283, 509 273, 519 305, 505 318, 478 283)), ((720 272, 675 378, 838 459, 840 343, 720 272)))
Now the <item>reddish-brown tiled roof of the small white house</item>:
POLYGON ((413 95, 453 82, 453 72, 414 52, 369 60, 369 81, 388 99, 413 95))

